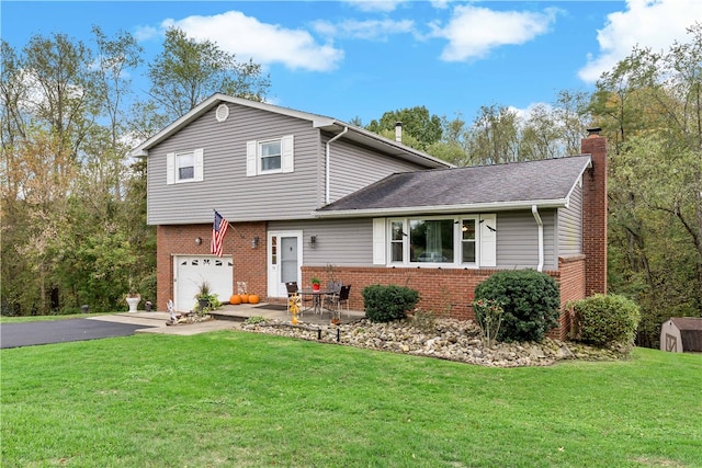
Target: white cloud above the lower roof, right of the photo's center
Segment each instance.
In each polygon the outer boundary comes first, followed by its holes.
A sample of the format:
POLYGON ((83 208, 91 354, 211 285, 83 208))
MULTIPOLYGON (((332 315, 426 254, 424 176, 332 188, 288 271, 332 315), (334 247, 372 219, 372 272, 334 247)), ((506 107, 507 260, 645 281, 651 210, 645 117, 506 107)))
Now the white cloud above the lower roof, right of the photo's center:
POLYGON ((555 9, 533 13, 460 5, 445 27, 433 26, 432 35, 449 39, 441 54, 443 60, 464 61, 485 57, 496 47, 523 44, 546 33, 556 13, 555 9))

